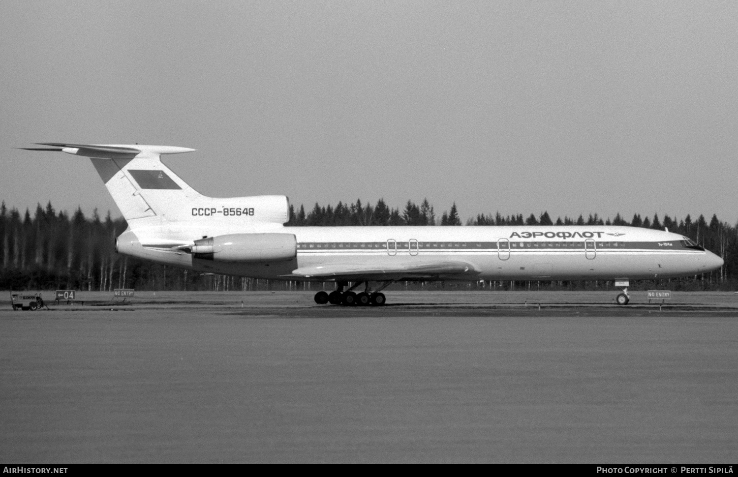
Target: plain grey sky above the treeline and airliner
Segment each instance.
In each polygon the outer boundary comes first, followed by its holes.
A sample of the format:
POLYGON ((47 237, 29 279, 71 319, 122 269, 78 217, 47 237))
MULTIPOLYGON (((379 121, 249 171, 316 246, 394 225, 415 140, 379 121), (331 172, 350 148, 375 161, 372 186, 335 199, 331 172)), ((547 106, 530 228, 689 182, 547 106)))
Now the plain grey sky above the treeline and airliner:
POLYGON ((88 159, 206 195, 738 220, 734 1, 0 2, 0 199, 119 215, 88 159))

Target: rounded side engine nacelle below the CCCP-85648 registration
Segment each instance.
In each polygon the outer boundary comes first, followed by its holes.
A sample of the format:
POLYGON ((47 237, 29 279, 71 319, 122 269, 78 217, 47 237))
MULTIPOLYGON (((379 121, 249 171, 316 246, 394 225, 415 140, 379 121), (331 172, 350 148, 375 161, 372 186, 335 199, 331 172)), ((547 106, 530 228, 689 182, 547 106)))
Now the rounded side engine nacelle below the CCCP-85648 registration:
POLYGON ((277 262, 297 257, 293 234, 230 234, 195 240, 196 259, 218 262, 277 262))

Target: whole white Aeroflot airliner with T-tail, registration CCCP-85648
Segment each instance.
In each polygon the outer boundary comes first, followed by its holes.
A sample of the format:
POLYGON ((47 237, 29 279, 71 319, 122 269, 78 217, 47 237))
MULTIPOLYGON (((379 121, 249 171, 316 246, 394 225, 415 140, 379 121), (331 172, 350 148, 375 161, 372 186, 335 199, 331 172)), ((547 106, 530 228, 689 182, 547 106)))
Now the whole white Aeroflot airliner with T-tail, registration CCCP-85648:
POLYGON ((689 237, 638 227, 289 227, 286 196, 206 197, 161 161, 194 149, 36 144, 44 147, 22 149, 92 160, 128 222, 118 253, 204 273, 334 282, 317 304, 382 305, 397 281, 612 280, 624 305, 630 280, 723 266, 689 237))

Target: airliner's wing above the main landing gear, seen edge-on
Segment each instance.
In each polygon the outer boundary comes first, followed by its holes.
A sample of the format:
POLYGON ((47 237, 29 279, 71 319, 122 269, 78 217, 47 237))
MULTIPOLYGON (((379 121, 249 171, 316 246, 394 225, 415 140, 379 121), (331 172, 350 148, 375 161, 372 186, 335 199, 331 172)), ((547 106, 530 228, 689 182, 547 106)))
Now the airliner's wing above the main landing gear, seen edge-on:
POLYGON ((379 281, 401 279, 432 279, 447 277, 449 279, 472 278, 479 271, 467 262, 424 262, 418 265, 357 265, 354 263, 331 263, 297 268, 292 274, 283 278, 323 278, 347 281, 379 281))

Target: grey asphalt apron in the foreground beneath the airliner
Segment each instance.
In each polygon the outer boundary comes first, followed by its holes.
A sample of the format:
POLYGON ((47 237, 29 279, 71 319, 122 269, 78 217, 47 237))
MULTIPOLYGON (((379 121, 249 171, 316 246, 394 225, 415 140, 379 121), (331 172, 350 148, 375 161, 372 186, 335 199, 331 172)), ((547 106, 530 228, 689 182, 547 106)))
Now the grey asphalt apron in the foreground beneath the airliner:
POLYGON ((644 292, 392 291, 376 308, 312 293, 8 303, 0 461, 738 457, 734 293, 661 310, 644 292))

